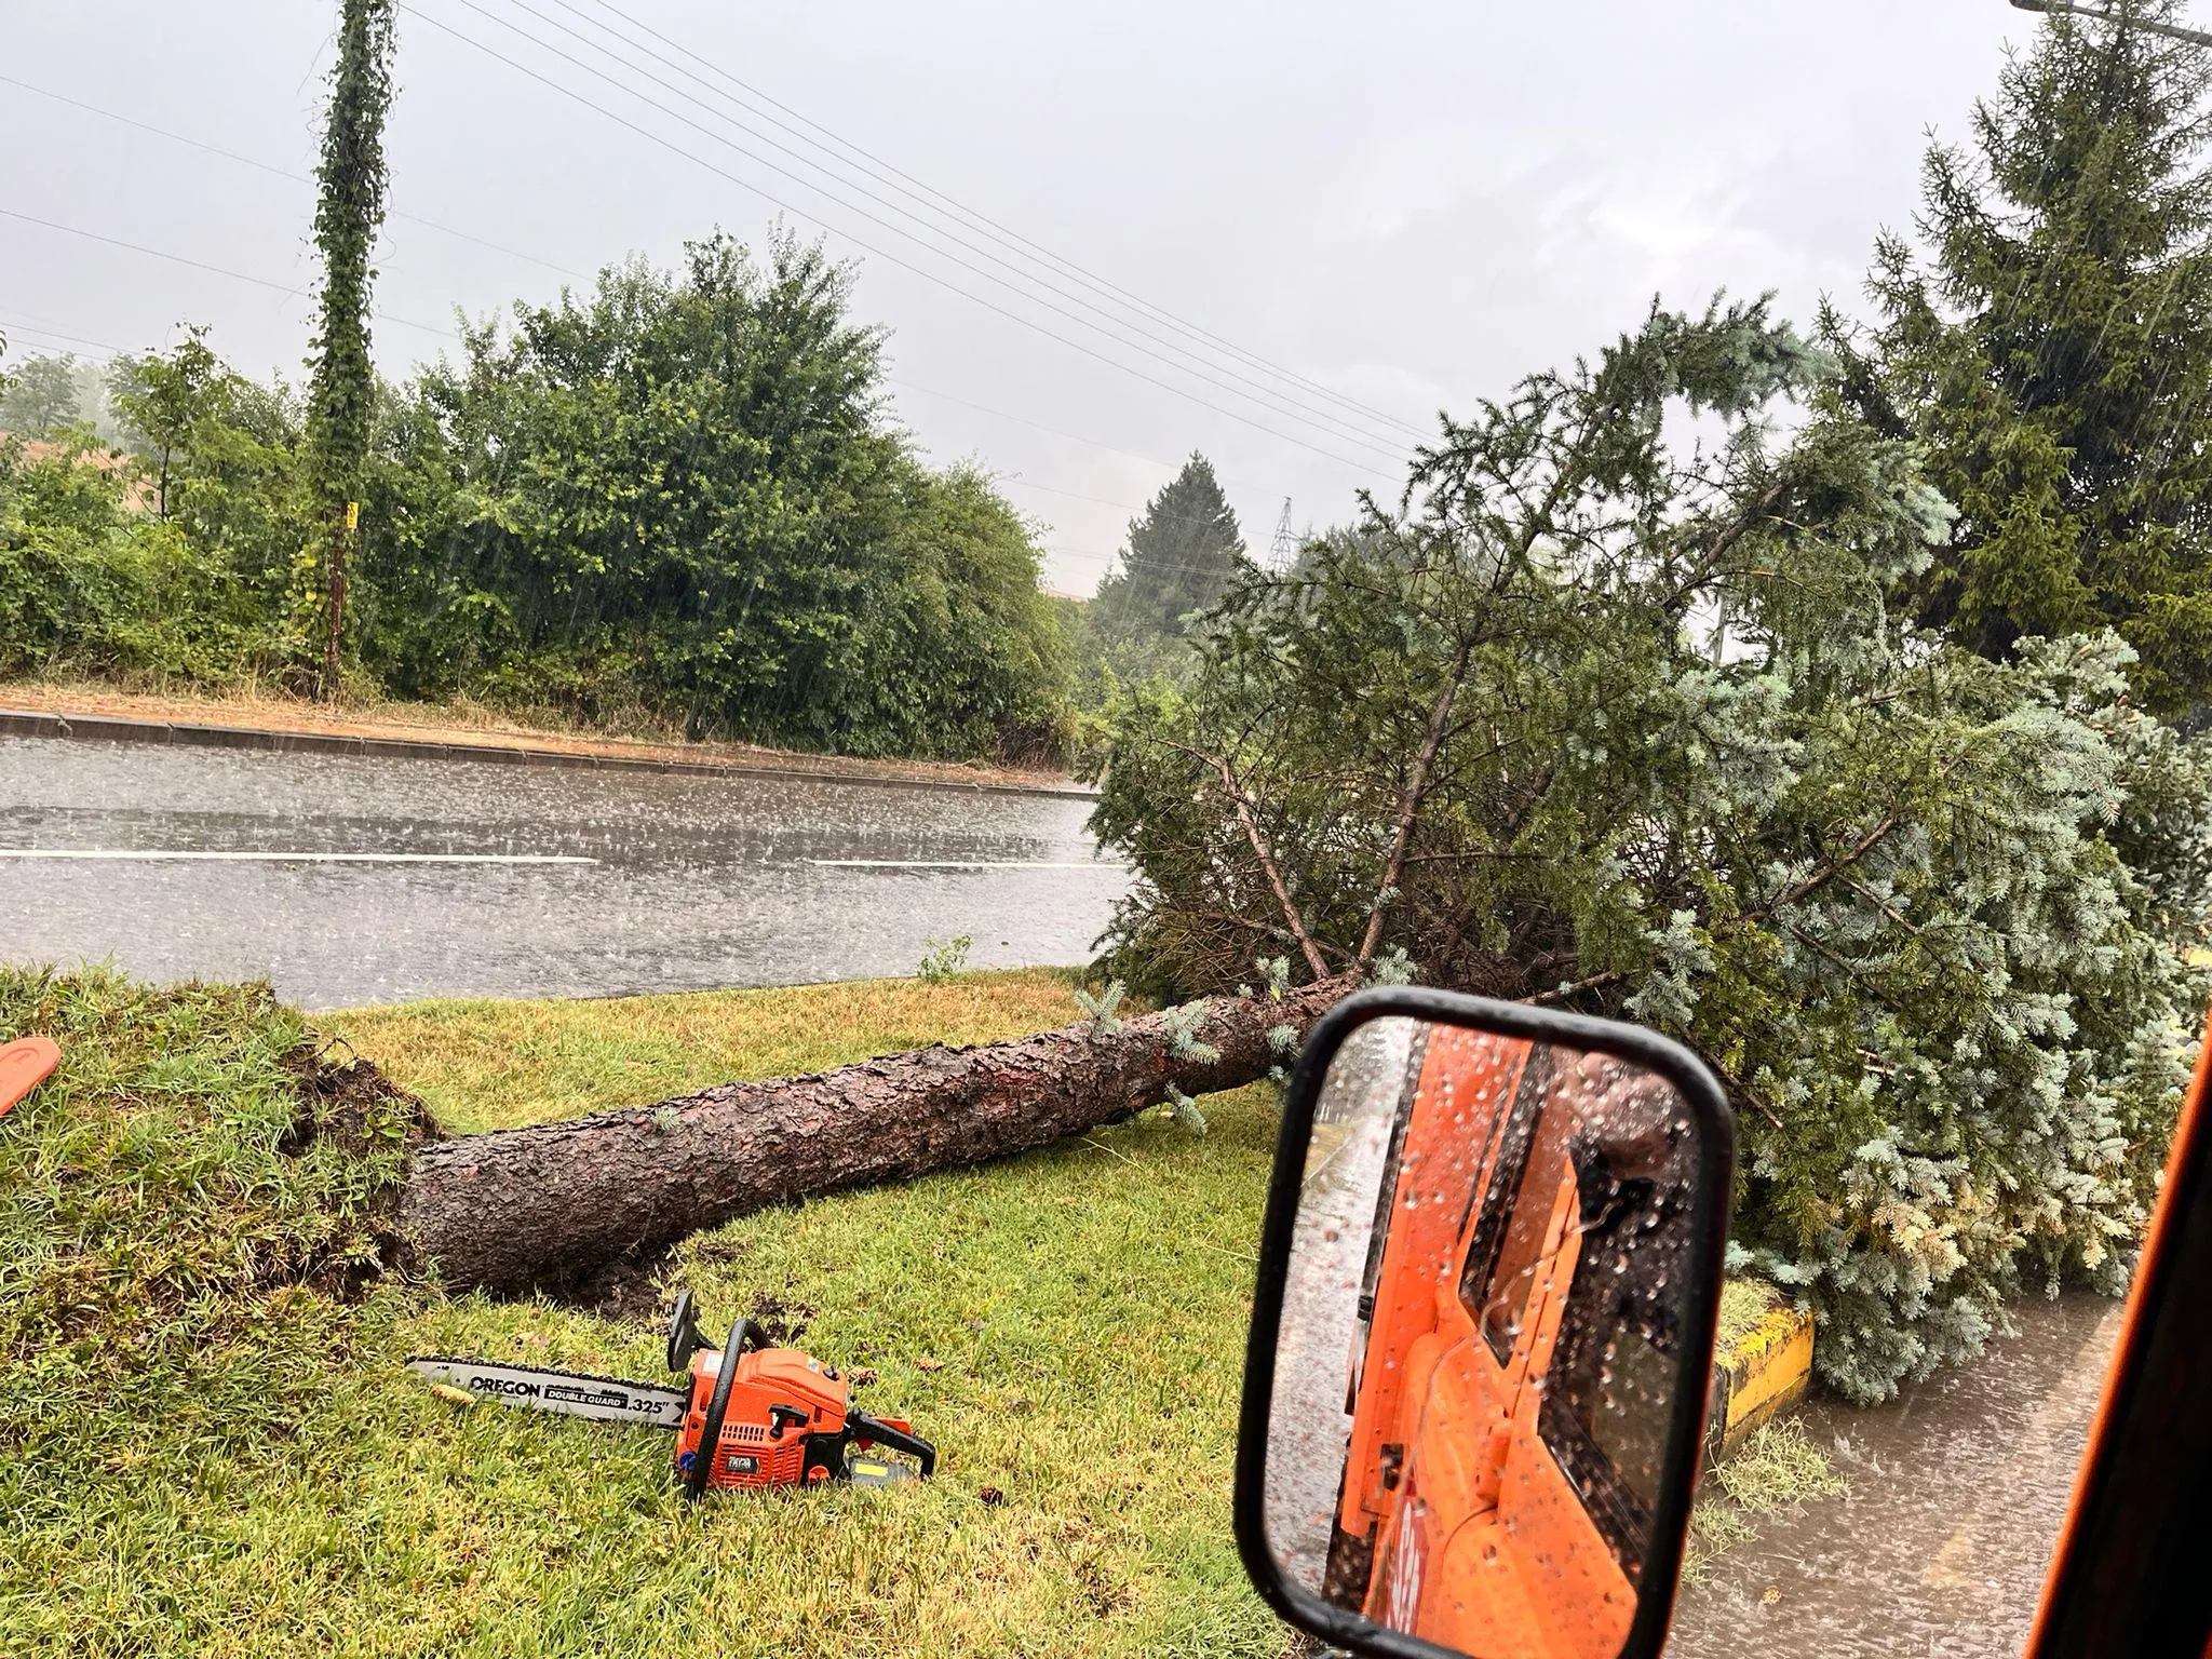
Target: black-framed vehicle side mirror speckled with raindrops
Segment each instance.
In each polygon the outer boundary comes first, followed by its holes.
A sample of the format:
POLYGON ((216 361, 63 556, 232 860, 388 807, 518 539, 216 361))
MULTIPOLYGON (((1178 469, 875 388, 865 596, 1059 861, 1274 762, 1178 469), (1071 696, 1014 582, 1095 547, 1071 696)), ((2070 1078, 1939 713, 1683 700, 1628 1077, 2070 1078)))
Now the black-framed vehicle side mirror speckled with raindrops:
POLYGON ((1705 1429, 1734 1119, 1686 1048, 1374 989, 1290 1082, 1237 1546, 1358 1655, 1648 1659, 1705 1429))

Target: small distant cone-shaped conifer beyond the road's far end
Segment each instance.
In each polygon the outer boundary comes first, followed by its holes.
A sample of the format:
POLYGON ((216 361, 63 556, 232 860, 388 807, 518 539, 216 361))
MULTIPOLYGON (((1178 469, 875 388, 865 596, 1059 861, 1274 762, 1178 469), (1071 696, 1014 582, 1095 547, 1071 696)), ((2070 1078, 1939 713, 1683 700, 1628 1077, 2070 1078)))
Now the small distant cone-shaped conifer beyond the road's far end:
POLYGON ((1088 626, 1121 672, 1175 661, 1183 617, 1221 602, 1252 571, 1214 465, 1192 453, 1128 526, 1121 566, 1099 582, 1088 626))

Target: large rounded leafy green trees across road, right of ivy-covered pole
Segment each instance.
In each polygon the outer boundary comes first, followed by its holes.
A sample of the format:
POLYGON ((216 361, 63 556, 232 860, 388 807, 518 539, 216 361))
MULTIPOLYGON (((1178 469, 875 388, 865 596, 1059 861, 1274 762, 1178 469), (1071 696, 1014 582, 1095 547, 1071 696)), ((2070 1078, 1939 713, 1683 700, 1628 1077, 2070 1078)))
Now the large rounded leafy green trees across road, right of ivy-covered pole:
POLYGON ((385 411, 369 666, 692 737, 1048 748, 1066 653, 1035 540, 883 420, 849 294, 818 246, 714 237, 471 332, 385 411))

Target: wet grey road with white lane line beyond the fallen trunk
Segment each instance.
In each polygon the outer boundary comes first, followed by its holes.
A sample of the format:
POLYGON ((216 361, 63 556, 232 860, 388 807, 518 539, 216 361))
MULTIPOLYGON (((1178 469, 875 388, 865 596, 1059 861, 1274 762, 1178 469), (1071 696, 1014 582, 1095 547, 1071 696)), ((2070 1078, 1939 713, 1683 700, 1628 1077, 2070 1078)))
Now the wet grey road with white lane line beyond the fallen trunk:
POLYGON ((0 739, 0 960, 274 980, 307 1009, 1082 962, 1124 891, 1088 801, 971 790, 0 739), (898 867, 898 865, 978 865, 898 867))

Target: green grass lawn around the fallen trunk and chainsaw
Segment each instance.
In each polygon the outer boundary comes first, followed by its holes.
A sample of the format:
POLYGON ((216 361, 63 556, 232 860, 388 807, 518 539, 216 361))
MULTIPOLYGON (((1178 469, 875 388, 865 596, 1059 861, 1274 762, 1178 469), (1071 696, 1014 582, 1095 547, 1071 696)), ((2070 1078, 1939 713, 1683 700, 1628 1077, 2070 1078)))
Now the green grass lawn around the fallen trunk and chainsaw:
MULTIPOLYGON (((1073 1013, 1062 975, 995 973, 316 1026, 489 1128, 1073 1013)), ((398 1369, 655 1378, 657 1327, 292 1283, 374 1250, 405 1135, 392 1110, 281 1150, 299 1015, 0 971, 0 1035, 24 1029, 66 1060, 0 1119, 4 1655, 1285 1648, 1228 1528, 1263 1091, 1210 1099, 1203 1139, 1146 1119, 690 1241, 670 1283, 710 1327, 783 1310, 940 1447, 929 1484, 692 1506, 664 1433, 453 1409, 398 1369)))

